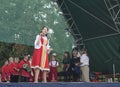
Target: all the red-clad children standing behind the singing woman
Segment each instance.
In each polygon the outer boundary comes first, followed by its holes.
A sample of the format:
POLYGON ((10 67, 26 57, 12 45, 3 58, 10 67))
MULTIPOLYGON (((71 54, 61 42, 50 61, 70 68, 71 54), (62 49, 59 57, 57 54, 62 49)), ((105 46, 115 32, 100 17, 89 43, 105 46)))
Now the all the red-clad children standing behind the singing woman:
MULTIPOLYGON (((56 60, 55 53, 52 54, 50 65, 50 72, 47 72, 47 80, 50 82, 58 81, 57 66, 59 65, 56 60), (52 73, 54 78, 52 77, 52 73)), ((32 59, 29 55, 25 54, 24 58, 19 61, 18 57, 10 57, 5 60, 4 65, 1 67, 0 82, 34 82, 34 69, 31 68, 32 59)), ((39 74, 39 80, 42 81, 42 71, 39 74)))

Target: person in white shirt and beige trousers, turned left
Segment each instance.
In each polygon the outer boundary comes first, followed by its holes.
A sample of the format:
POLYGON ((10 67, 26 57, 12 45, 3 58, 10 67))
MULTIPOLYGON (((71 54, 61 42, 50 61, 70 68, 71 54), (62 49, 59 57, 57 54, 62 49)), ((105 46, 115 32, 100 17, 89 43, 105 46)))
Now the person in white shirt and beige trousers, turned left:
POLYGON ((82 71, 82 81, 90 82, 89 80, 89 57, 87 56, 86 49, 80 51, 80 67, 82 71))

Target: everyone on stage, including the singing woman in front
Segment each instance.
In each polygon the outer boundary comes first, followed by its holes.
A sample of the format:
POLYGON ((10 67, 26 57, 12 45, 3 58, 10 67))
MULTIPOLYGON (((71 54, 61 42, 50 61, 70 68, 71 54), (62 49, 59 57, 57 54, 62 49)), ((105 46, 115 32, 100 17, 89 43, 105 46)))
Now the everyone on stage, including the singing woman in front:
MULTIPOLYGON (((48 28, 43 27, 40 33, 36 36, 34 42, 34 51, 32 56, 25 54, 24 58, 10 57, 2 66, 1 81, 2 82, 34 82, 39 80, 46 83, 58 82, 58 66, 57 54, 53 53, 49 61, 48 55, 53 50, 49 46, 47 37, 48 28)), ((72 50, 72 58, 69 52, 64 53, 62 61, 64 81, 81 81, 89 82, 89 57, 86 49, 81 50, 74 48, 72 50)))

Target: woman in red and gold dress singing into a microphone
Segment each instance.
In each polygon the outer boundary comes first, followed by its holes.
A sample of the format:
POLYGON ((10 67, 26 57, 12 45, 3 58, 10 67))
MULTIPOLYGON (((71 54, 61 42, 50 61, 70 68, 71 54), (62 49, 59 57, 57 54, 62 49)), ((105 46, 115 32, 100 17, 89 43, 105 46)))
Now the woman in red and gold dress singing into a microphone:
POLYGON ((43 82, 47 82, 47 71, 49 71, 48 53, 52 50, 47 38, 48 28, 43 27, 39 35, 36 36, 34 52, 32 57, 32 68, 35 71, 34 82, 38 82, 40 70, 43 71, 43 82))

